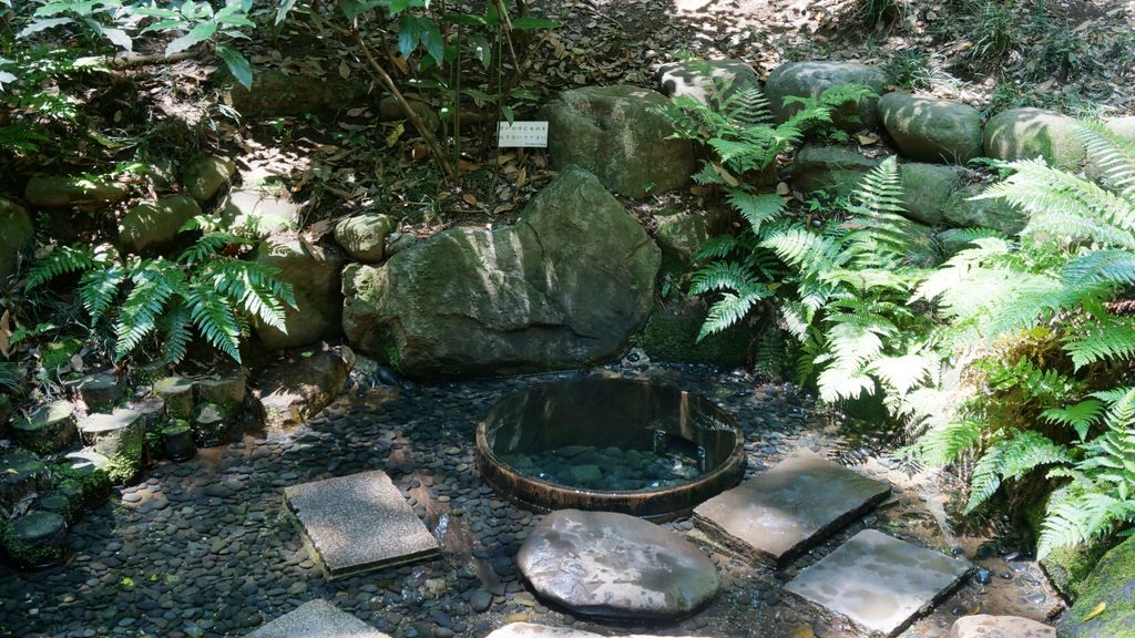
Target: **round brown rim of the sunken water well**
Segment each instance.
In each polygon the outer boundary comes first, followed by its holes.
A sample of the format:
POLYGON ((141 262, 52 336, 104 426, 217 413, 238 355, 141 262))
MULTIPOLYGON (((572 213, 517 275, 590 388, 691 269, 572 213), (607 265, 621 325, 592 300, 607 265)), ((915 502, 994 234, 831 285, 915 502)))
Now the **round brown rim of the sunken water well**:
POLYGON ((733 417, 700 394, 639 379, 575 378, 531 386, 502 397, 477 426, 476 460, 481 479, 498 495, 522 509, 537 513, 566 509, 600 510, 664 522, 689 515, 693 507, 703 501, 740 482, 745 473, 746 452, 745 435, 733 417), (581 383, 622 384, 628 387, 637 387, 640 391, 665 392, 672 393, 675 397, 689 397, 712 412, 716 419, 730 426, 729 431, 733 434, 732 450, 723 461, 695 479, 678 485, 645 489, 592 489, 549 481, 520 472, 497 457, 489 442, 488 430, 502 405, 521 395, 548 386, 581 383))

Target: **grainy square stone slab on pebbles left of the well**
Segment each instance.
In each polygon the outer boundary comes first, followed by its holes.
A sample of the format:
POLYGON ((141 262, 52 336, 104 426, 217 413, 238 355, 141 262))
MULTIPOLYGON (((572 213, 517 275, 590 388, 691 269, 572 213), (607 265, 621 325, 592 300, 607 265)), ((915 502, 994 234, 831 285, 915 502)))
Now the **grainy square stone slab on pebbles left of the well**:
POLYGON ((284 505, 328 579, 409 563, 438 551, 434 535, 380 470, 285 488, 284 505))

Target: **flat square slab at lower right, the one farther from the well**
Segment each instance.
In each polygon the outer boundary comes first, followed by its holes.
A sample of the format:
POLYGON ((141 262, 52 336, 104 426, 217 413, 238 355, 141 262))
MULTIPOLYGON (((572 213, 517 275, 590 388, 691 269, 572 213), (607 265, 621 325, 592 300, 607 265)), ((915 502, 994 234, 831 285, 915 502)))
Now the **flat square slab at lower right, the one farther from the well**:
POLYGON ((964 561, 865 529, 784 589, 847 618, 864 633, 892 637, 967 573, 964 561))

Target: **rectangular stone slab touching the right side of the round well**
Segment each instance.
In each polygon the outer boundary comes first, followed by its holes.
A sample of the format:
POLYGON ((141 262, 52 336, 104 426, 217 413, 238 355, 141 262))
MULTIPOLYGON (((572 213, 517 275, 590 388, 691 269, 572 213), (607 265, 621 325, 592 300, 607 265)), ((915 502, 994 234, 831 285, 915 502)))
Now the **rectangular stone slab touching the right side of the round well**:
POLYGON ((742 556, 780 565, 874 507, 890 492, 888 482, 800 450, 698 505, 693 522, 712 540, 742 556))

